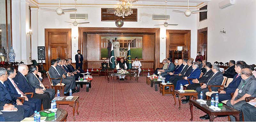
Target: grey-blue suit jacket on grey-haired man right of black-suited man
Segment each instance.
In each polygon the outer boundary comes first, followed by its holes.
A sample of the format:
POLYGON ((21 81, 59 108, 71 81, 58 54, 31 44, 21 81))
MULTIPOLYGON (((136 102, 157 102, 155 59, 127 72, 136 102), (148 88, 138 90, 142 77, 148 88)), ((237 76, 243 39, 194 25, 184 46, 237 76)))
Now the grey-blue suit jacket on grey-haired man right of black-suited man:
MULTIPOLYGON (((213 75, 213 74, 212 74, 213 75)), ((223 81, 223 75, 220 71, 218 71, 212 78, 210 78, 209 82, 206 82, 206 85, 221 85, 223 81)), ((220 87, 212 87, 212 91, 218 91, 220 87)))

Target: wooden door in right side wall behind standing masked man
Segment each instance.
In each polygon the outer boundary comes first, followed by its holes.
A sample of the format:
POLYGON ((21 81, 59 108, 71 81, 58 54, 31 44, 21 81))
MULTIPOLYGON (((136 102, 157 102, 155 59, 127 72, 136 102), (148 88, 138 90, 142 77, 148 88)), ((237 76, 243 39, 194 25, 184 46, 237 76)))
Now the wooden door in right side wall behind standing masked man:
POLYGON ((207 27, 197 30, 197 50, 207 60, 207 27))

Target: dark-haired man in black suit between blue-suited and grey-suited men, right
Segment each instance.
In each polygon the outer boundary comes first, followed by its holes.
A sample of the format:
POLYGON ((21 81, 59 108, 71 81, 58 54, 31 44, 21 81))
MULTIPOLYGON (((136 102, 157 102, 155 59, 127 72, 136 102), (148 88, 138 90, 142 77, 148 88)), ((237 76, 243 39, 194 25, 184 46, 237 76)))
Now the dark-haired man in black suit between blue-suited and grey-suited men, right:
MULTIPOLYGON (((207 62, 204 68, 206 69, 206 71, 204 72, 203 76, 199 79, 192 80, 194 84, 188 85, 187 90, 196 90, 196 88, 200 86, 200 83, 206 83, 212 77, 212 64, 210 62, 207 62)), ((181 100, 183 104, 189 102, 189 96, 186 97, 186 99, 181 100)))

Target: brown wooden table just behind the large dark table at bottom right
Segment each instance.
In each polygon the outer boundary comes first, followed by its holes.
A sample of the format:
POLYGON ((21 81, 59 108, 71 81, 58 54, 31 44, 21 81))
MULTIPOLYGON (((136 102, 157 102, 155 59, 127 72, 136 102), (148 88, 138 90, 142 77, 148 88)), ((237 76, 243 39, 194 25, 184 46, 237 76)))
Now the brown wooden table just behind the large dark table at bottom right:
POLYGON ((174 105, 176 105, 176 94, 179 96, 179 110, 180 110, 180 103, 181 103, 181 98, 183 98, 184 96, 189 96, 189 99, 191 98, 191 96, 193 97, 193 99, 197 99, 197 92, 179 92, 178 90, 174 90, 174 105))

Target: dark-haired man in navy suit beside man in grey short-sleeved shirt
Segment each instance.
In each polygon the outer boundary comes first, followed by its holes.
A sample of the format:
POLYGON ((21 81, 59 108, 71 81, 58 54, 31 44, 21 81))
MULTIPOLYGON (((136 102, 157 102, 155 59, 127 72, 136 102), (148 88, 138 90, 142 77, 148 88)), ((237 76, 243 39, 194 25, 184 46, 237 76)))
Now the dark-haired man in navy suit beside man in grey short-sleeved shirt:
MULTIPOLYGON (((237 61, 235 65, 235 70, 238 74, 236 74, 233 78, 233 81, 229 83, 227 88, 224 88, 224 90, 220 91, 219 93, 219 102, 224 100, 231 99, 231 93, 234 93, 236 91, 236 88, 239 86, 242 78, 240 76, 241 69, 246 67, 246 63, 244 61, 237 61)), ((216 93, 211 95, 211 98, 215 98, 216 93)))

